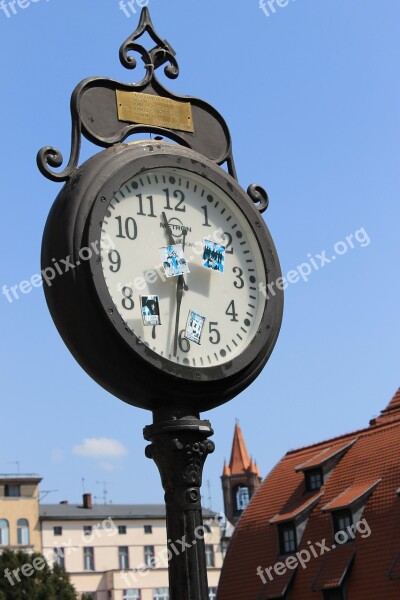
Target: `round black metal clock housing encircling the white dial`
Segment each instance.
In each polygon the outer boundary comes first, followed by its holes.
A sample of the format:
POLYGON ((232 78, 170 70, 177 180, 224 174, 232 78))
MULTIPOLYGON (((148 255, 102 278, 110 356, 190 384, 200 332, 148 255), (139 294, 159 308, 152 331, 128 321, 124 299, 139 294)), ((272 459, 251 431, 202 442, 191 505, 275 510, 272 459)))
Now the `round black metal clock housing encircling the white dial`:
POLYGON ((126 326, 102 274, 101 223, 114 193, 129 177, 159 167, 196 173, 229 195, 249 223, 268 281, 280 267, 274 243, 257 208, 237 181, 201 154, 170 142, 118 144, 85 162, 64 185, 50 211, 42 244, 42 269, 69 258, 70 268, 45 285, 52 318, 69 350, 103 388, 125 402, 166 414, 218 406, 245 389, 260 373, 278 337, 283 293, 268 298, 258 331, 236 358, 196 368, 153 352, 126 326), (79 263, 79 264, 78 264, 79 263), (73 265, 73 267, 72 267, 73 265))

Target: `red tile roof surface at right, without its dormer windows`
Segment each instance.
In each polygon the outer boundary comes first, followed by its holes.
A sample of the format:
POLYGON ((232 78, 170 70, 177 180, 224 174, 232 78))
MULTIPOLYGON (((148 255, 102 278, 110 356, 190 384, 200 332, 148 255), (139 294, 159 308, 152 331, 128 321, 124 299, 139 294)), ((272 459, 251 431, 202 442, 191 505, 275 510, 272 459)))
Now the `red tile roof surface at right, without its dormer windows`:
MULTIPOLYGON (((343 492, 350 494, 349 489, 351 498, 349 495, 348 499, 351 500, 355 490, 365 491, 381 479, 366 498, 355 540, 346 544, 346 548, 355 550, 347 580, 348 598, 398 600, 400 581, 390 579, 389 571, 391 568, 396 573, 399 571, 396 558, 400 553, 400 498, 397 495, 400 486, 400 390, 370 427, 288 452, 275 466, 238 522, 222 569, 218 600, 258 600, 262 597, 263 583, 257 567, 266 569, 284 560, 279 556, 278 525, 271 524, 270 520, 294 510, 305 497, 304 473, 296 471, 296 466, 304 465, 328 448, 349 444, 354 437, 357 441, 341 457, 323 487, 326 506, 343 492)), ((333 545, 332 516, 321 510, 319 502, 311 508, 299 545, 300 551, 310 551, 311 547, 317 549, 317 556, 311 556, 306 568, 297 568, 290 591, 291 600, 310 600, 314 596, 319 600, 318 593, 312 592, 313 584, 326 586, 338 582, 345 569, 343 566, 342 571, 340 561, 350 550, 344 550, 341 555, 332 550, 333 545), (328 546, 329 554, 320 555, 318 543, 322 541, 328 546), (332 564, 327 562, 328 556, 332 564), (339 566, 334 567, 334 564, 339 566), (322 569, 326 578, 317 579, 318 574, 323 573, 322 569)), ((346 565, 345 558, 343 564, 346 565)), ((280 577, 275 574, 274 581, 276 579, 280 577)), ((264 587, 267 593, 267 586, 264 587)), ((279 594, 276 597, 279 598, 279 594)))

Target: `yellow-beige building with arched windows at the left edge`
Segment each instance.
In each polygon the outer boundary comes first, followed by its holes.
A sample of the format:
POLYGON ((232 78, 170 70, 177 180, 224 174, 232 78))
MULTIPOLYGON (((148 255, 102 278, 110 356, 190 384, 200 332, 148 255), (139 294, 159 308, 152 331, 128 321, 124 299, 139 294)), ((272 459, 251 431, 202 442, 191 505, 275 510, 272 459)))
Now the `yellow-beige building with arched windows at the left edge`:
POLYGON ((38 475, 0 475, 0 550, 42 549, 38 475))

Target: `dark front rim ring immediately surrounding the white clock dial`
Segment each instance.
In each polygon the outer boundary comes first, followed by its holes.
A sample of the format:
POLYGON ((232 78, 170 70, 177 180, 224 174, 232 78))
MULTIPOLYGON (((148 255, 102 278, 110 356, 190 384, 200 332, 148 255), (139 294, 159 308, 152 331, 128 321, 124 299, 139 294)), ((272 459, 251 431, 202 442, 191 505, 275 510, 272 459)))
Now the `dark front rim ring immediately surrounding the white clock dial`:
MULTIPOLYGON (((153 169, 179 169, 183 172, 186 171, 204 178, 207 182, 211 182, 236 205, 248 223, 259 247, 265 272, 265 283, 276 281, 280 276, 280 268, 272 240, 263 224, 261 215, 237 182, 220 167, 217 167, 214 163, 206 160, 203 156, 192 150, 176 146, 169 142, 158 143, 154 146, 148 143, 147 149, 148 151, 145 154, 139 152, 136 155, 135 153, 128 162, 117 168, 99 188, 88 219, 88 247, 99 243, 103 220, 109 204, 116 192, 127 181, 140 173, 153 169)), ((135 333, 127 326, 111 298, 104 278, 101 261, 98 260, 98 257, 93 256, 89 265, 96 294, 107 319, 130 351, 134 352, 155 370, 161 369, 164 373, 186 381, 210 382, 237 375, 251 365, 260 354, 269 355, 272 351, 277 336, 275 326, 276 304, 281 303, 279 290, 275 296, 266 300, 258 330, 240 354, 233 357, 231 361, 226 361, 220 365, 195 367, 173 362, 157 354, 139 340, 135 333)))

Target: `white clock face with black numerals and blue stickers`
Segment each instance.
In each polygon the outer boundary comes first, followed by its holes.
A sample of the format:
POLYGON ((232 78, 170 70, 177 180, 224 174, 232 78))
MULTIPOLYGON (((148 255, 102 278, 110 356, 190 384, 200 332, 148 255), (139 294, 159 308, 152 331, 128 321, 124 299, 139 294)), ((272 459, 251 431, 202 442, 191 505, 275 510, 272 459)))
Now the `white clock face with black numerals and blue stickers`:
POLYGON ((259 244, 201 175, 157 167, 126 180, 105 210, 100 249, 105 309, 165 360, 217 367, 256 335, 266 304, 259 244))

